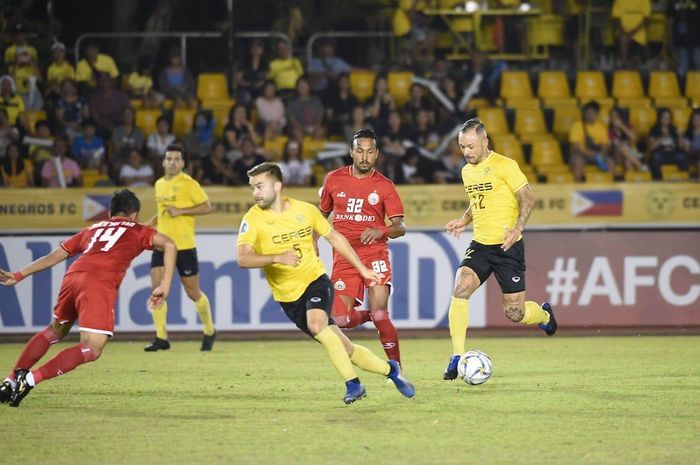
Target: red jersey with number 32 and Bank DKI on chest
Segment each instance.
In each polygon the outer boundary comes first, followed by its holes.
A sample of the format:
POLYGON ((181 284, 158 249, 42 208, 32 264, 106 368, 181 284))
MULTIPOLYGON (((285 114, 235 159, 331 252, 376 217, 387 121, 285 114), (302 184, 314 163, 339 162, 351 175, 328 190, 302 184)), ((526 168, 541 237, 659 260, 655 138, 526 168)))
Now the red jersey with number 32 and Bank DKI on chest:
POLYGON ((367 177, 356 178, 352 175, 352 166, 328 173, 319 208, 326 215, 333 212, 333 227, 355 249, 386 247, 386 236, 365 246, 360 242, 360 235, 367 228, 386 226, 384 218, 387 216, 403 216, 403 204, 391 180, 375 170, 367 177))

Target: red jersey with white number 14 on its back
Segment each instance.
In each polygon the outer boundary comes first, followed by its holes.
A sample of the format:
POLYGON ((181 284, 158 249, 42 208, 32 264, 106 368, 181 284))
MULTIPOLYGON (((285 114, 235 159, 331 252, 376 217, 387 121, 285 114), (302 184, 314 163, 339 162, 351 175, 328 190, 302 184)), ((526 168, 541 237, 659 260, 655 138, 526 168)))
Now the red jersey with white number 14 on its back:
POLYGON ((78 271, 91 273, 95 280, 112 281, 119 287, 131 261, 153 248, 157 231, 126 218, 113 217, 89 226, 61 243, 73 256, 82 252, 68 268, 66 276, 78 271))

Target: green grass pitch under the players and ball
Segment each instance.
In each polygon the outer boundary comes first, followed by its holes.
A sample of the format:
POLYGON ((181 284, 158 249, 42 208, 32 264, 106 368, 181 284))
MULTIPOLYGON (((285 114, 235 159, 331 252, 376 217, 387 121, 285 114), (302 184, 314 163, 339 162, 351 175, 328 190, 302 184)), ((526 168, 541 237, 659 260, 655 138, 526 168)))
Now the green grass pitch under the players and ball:
MULTIPOLYGON (((482 386, 442 381, 447 335, 404 339, 416 397, 365 373, 368 396, 350 406, 308 340, 143 345, 111 342, 20 408, 0 406, 0 462, 700 463, 697 336, 470 338, 494 362, 482 386)), ((0 344, 3 370, 20 350, 0 344)))

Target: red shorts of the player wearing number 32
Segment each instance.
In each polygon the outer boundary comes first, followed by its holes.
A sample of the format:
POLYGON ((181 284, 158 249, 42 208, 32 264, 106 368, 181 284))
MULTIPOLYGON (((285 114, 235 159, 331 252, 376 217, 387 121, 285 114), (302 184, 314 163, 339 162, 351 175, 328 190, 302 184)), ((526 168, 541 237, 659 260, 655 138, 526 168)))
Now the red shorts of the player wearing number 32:
MULTIPOLYGON (((391 262, 389 261, 389 249, 374 249, 363 252, 357 251, 362 263, 377 273, 381 274, 382 280, 379 284, 391 287, 391 262)), ((357 268, 352 266, 344 258, 336 258, 333 262, 333 273, 331 274, 333 288, 337 295, 344 295, 355 299, 357 305, 361 305, 365 300, 365 290, 369 287, 370 281, 364 279, 357 268)))

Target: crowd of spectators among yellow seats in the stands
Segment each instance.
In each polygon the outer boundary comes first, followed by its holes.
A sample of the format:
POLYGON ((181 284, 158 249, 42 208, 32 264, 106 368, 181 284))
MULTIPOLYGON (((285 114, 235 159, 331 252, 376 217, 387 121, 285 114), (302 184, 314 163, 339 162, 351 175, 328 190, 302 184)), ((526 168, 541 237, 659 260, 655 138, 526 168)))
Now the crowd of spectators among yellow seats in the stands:
MULTIPOLYGON (((656 95, 657 71, 591 71, 602 82, 593 85, 596 93, 586 92, 585 72, 528 73, 478 52, 461 64, 434 58, 430 73, 381 72, 352 68, 331 41, 303 63, 285 40, 274 50, 252 40, 229 97, 223 74, 194 75, 176 49, 163 69, 141 57, 124 73, 96 43, 76 67, 60 42, 51 47, 51 62, 41 63, 26 32, 14 25, 0 77, 5 187, 152 185, 162 175, 165 147, 175 141, 203 185, 246 185, 246 171, 267 160, 280 163, 287 185, 319 185, 328 170, 348 162, 347 144, 361 128, 379 135, 377 168, 397 184, 460 183, 465 160, 455 127, 472 116, 484 121, 494 150, 518 160, 532 182, 698 175, 700 110, 692 107, 700 97, 698 84, 689 83, 700 82, 694 52, 684 61, 689 71, 658 71, 676 88, 656 95), (639 92, 628 95, 623 83, 616 94, 624 77, 618 73, 631 73, 626 78, 639 81, 639 92), (419 74, 432 84, 411 80, 419 74), (219 77, 223 90, 208 94, 206 86, 219 77)), ((621 47, 631 53, 629 43, 621 47)))

